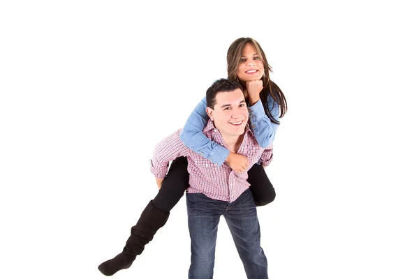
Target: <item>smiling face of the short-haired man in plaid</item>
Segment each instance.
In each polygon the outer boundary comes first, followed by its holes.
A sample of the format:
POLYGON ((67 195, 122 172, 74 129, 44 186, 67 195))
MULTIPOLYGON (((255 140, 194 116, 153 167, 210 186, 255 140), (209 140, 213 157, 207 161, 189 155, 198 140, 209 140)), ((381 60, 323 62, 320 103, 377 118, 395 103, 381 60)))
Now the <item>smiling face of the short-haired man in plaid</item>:
POLYGON ((242 135, 249 119, 246 100, 241 89, 217 93, 214 110, 207 107, 207 113, 221 134, 231 137, 242 135))

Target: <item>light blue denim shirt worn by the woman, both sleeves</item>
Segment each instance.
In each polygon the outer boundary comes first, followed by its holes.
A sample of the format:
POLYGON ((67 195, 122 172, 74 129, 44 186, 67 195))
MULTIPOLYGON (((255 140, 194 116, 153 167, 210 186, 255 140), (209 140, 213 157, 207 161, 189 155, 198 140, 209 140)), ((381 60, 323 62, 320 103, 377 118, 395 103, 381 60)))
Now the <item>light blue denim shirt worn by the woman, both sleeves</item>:
MULTIPOLYGON (((279 121, 279 105, 268 96, 268 108, 275 119, 279 121)), ((203 129, 207 124, 209 116, 206 112, 207 98, 198 103, 195 110, 191 113, 180 134, 180 140, 189 148, 200 154, 204 158, 212 160, 216 165, 221 166, 226 160, 230 151, 226 147, 212 142, 203 134, 203 129)), ((272 143, 277 133, 279 124, 272 123, 265 114, 262 102, 258 100, 256 104, 249 107, 249 120, 258 144, 265 148, 272 143)))

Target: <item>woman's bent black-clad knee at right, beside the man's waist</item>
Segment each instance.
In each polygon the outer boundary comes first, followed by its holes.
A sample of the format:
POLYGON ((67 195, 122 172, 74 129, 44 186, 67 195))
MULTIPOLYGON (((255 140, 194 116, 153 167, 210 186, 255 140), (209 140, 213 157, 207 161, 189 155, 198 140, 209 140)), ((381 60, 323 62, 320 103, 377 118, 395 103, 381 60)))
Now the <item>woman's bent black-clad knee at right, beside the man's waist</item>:
POLYGON ((261 165, 255 164, 247 174, 249 175, 247 182, 250 183, 251 194, 256 206, 273 202, 276 196, 275 189, 267 178, 265 169, 261 165))

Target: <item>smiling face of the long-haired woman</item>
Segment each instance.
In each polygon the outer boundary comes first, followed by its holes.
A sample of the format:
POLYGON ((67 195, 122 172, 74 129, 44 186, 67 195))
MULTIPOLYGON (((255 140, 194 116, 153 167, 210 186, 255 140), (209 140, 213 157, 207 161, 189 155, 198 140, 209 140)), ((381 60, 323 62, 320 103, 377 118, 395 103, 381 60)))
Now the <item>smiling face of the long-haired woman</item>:
POLYGON ((259 54, 256 53, 256 48, 251 43, 244 45, 242 58, 237 69, 237 77, 240 82, 260 80, 264 70, 263 62, 260 60, 259 54))

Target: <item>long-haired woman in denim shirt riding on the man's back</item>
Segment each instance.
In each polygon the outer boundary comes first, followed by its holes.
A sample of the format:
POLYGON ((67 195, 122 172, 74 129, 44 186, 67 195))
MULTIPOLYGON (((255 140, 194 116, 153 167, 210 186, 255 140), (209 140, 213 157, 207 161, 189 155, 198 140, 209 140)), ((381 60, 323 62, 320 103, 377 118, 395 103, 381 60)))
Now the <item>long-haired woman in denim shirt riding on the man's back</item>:
MULTIPOLYGON (((227 52, 228 79, 238 80, 244 89, 244 96, 249 106, 249 122, 258 144, 266 147, 274 140, 279 118, 287 110, 286 98, 279 86, 270 80, 272 68, 259 43, 252 38, 235 40, 227 52)), ((208 116, 205 98, 196 106, 182 130, 181 139, 186 146, 201 156, 212 160, 217 165, 227 163, 235 172, 242 172, 249 167, 246 157, 230 153, 228 149, 211 142, 203 135, 203 128, 208 116)), ((275 191, 265 170, 258 164, 249 169, 248 182, 256 205, 272 202, 275 191)), ((126 241, 124 250, 113 259, 98 266, 106 276, 112 276, 121 269, 128 269, 144 246, 152 241, 154 234, 168 220, 170 210, 179 202, 189 186, 187 160, 177 158, 163 181, 157 180, 160 188, 156 197, 147 204, 137 224, 131 228, 131 236, 126 241)))

